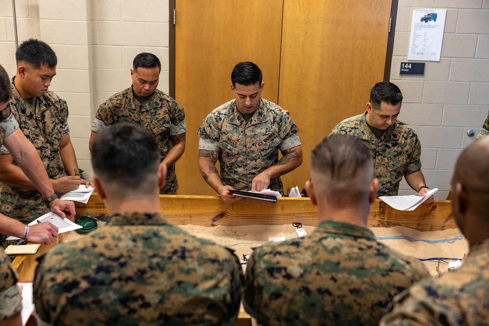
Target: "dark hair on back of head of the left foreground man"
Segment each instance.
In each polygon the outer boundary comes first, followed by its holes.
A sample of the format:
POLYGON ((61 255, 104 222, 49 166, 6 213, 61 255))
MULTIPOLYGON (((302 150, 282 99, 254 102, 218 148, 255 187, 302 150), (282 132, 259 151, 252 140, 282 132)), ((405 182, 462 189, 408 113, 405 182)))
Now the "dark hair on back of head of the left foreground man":
POLYGON ((155 137, 141 126, 111 125, 93 143, 93 171, 102 183, 130 187, 129 192, 151 191, 158 182, 159 154, 155 137))

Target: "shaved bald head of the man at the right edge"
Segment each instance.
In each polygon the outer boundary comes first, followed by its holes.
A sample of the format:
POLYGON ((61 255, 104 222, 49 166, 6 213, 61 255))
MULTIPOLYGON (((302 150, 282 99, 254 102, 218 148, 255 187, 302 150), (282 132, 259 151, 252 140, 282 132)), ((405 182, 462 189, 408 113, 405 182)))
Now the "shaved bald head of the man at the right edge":
POLYGON ((470 245, 489 238, 489 137, 460 154, 451 186, 453 215, 470 245))

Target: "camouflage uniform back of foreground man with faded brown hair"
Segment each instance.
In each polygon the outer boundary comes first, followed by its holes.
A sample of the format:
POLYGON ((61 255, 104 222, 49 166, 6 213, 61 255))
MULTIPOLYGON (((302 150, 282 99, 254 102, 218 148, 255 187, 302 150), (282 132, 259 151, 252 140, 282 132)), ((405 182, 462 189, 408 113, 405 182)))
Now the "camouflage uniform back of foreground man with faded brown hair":
POLYGON ((261 325, 378 325, 392 298, 427 276, 367 228, 327 220, 305 238, 254 249, 243 304, 261 325))

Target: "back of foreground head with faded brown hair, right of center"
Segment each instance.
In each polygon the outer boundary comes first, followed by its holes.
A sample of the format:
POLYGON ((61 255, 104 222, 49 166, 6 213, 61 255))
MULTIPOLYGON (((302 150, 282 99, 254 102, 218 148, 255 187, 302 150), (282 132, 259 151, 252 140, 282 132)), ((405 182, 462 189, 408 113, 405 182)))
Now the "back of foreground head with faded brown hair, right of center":
POLYGON ((311 152, 311 181, 316 200, 337 209, 368 198, 373 179, 370 150, 356 137, 333 134, 311 152))

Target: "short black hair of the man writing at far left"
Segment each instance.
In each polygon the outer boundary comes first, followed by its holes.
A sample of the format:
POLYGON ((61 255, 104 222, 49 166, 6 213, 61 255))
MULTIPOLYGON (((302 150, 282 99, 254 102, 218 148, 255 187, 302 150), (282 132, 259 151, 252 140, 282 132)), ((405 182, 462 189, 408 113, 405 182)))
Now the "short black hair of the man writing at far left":
POLYGON ((15 52, 15 59, 17 64, 26 62, 35 69, 41 68, 41 65, 54 68, 58 64, 58 58, 53 49, 43 41, 36 39, 29 39, 19 45, 15 52))

